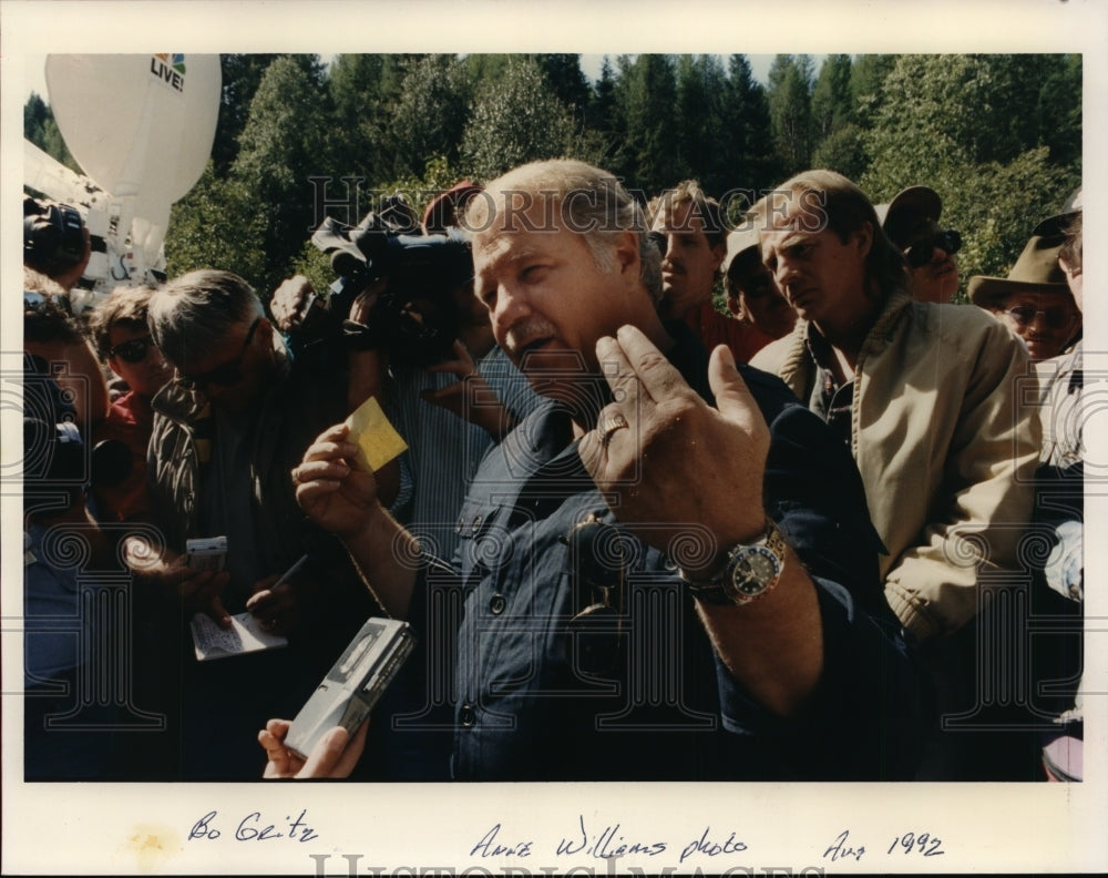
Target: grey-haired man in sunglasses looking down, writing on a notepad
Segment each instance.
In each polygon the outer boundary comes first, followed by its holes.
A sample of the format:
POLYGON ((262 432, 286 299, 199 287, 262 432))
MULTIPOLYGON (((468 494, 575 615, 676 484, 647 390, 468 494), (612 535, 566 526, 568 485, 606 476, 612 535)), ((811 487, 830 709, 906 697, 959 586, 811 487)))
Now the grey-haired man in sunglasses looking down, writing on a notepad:
POLYGON ((163 658, 172 674, 166 709, 181 717, 177 773, 256 777, 252 738, 273 698, 298 707, 334 661, 335 644, 372 613, 341 551, 328 553, 330 541, 304 522, 289 480, 311 438, 345 417, 346 380, 299 368, 257 294, 230 272, 192 272, 161 287, 150 331, 176 372, 154 399, 148 452, 164 558, 143 573, 172 596, 163 658), (215 537, 227 539, 223 570, 185 563, 188 539, 215 537), (294 565, 297 573, 278 582, 294 565), (225 626, 230 614, 250 613, 289 644, 197 662, 187 629, 196 613, 225 626))

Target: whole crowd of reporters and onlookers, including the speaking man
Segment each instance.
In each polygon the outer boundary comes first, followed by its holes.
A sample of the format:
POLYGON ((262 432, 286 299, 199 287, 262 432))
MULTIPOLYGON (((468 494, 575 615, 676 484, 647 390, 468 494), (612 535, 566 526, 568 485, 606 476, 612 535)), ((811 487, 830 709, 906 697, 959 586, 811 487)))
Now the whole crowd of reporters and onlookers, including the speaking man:
POLYGON ((732 227, 553 160, 341 304, 206 267, 74 315, 25 265, 25 777, 1080 779, 1079 193, 965 305, 941 214, 817 170, 732 227), (416 652, 305 759, 373 615, 416 652))

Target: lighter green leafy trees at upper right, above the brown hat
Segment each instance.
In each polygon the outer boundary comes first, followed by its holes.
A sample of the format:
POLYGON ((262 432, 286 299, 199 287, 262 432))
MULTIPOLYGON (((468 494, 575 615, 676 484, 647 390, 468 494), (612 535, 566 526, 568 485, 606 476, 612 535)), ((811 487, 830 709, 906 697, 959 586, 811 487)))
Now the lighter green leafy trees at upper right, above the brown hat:
POLYGON ((943 225, 963 233, 963 284, 1004 276, 1080 182, 1079 161, 1060 150, 1059 162, 1049 145, 1080 136, 1080 90, 1043 94, 1068 69, 1051 55, 904 55, 889 72, 897 101, 873 114, 864 135, 873 162, 860 183, 882 202, 932 186, 943 225), (1071 130, 1059 132, 1058 120, 1071 130))

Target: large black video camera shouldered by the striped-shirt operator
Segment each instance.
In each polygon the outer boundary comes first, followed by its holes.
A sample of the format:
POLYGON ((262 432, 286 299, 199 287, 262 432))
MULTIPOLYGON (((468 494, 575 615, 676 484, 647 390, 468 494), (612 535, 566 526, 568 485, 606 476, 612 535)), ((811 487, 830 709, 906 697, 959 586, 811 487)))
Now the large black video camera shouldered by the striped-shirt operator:
POLYGON ((458 229, 444 235, 406 234, 413 215, 398 195, 357 226, 327 217, 311 243, 330 256, 338 279, 321 305, 331 323, 346 320, 355 298, 383 277, 388 285, 372 305, 368 324, 346 321, 351 345, 383 348, 400 363, 428 365, 447 357, 461 327, 454 292, 473 280, 469 239, 458 229))

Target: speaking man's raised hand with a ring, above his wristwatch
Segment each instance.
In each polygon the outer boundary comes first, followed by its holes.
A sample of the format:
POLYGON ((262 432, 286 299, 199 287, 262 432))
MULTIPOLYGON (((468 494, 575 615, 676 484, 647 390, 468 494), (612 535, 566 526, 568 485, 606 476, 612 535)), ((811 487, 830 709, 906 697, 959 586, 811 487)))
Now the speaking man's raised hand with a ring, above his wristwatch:
MULTIPOLYGON (((616 517, 667 550, 689 533, 708 540, 689 573, 718 566, 765 529, 762 480, 769 428, 726 347, 712 351, 712 408, 638 329, 596 343, 615 401, 578 453, 616 517), (638 524, 640 527, 636 528, 638 524)), ((691 559, 689 559, 691 560, 691 559)))

